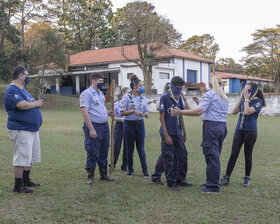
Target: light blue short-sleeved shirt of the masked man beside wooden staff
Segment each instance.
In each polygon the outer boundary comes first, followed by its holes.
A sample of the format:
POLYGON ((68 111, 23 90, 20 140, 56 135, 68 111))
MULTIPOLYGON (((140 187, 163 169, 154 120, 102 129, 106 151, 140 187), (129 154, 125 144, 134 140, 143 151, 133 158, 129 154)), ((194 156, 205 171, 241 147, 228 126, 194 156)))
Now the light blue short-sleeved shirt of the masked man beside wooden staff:
POLYGON ((105 123, 108 121, 108 112, 102 91, 96 91, 92 86, 87 88, 81 93, 80 107, 88 108, 88 114, 92 122, 105 123))

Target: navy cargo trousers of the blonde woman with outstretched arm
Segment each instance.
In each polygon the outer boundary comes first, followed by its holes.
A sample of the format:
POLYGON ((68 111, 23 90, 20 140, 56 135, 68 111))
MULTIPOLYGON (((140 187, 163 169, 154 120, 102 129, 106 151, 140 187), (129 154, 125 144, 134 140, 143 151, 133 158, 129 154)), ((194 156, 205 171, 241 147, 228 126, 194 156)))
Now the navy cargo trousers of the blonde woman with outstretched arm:
POLYGON ((227 135, 226 122, 203 122, 203 154, 206 161, 206 188, 219 191, 221 173, 220 155, 224 139, 227 135))

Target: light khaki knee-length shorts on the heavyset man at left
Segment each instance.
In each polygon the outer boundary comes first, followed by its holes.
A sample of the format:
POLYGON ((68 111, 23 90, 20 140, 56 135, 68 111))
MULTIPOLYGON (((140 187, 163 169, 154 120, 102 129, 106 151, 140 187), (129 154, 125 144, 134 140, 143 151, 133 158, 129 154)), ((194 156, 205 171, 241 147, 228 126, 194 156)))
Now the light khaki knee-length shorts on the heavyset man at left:
POLYGON ((9 138, 13 142, 13 166, 31 166, 41 162, 39 131, 8 130, 9 138))

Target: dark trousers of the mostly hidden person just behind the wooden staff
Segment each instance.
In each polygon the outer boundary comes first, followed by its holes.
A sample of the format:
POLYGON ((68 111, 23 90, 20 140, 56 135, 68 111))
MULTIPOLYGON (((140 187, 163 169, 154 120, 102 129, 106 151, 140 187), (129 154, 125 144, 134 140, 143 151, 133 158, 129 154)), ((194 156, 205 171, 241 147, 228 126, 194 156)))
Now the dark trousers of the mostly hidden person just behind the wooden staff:
MULTIPOLYGON (((122 147, 122 140, 123 140, 123 122, 116 122, 114 128, 114 164, 118 162, 118 158, 120 155, 121 147, 122 147)), ((126 144, 125 140, 123 142, 123 161, 122 161, 122 168, 126 169, 127 166, 127 159, 126 159, 126 144)))

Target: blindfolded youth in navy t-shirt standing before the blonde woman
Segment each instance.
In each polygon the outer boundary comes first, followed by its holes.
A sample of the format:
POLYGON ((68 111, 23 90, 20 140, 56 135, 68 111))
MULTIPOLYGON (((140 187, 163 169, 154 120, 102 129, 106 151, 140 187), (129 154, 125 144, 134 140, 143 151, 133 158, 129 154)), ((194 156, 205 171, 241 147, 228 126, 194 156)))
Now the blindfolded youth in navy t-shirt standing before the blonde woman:
POLYGON ((172 107, 184 109, 182 98, 180 97, 184 83, 181 77, 173 77, 169 90, 162 95, 159 103, 164 171, 167 186, 175 191, 180 190, 177 185, 192 185, 185 181, 188 168, 188 153, 184 144, 186 131, 183 117, 171 114, 172 107))

